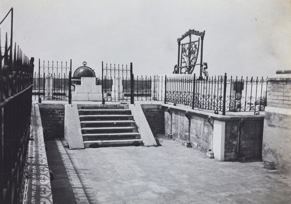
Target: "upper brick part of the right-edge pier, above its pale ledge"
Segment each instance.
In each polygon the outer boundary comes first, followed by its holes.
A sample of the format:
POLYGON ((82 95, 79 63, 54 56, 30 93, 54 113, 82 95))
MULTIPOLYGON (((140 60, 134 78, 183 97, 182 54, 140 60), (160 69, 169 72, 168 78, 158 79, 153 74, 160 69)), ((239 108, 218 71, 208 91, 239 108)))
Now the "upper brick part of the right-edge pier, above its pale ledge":
POLYGON ((284 80, 280 81, 274 79, 269 81, 267 99, 267 106, 290 109, 291 83, 284 80))

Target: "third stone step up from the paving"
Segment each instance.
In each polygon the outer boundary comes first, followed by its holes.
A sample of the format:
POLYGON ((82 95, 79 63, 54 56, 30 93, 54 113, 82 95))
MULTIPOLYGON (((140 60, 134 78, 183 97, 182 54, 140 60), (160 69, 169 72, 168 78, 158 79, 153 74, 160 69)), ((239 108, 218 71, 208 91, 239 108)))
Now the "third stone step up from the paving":
POLYGON ((113 132, 137 132, 135 126, 128 127, 83 127, 81 128, 82 134, 88 133, 113 133, 113 132))

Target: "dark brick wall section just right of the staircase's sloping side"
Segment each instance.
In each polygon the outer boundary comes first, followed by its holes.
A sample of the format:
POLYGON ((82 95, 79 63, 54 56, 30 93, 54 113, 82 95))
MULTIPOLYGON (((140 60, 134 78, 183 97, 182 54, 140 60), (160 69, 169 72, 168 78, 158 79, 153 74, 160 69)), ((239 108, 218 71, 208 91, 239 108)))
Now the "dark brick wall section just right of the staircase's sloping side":
POLYGON ((141 107, 146 116, 146 120, 148 125, 156 137, 157 134, 165 133, 165 125, 164 125, 164 112, 162 109, 162 105, 159 104, 146 104, 141 107))

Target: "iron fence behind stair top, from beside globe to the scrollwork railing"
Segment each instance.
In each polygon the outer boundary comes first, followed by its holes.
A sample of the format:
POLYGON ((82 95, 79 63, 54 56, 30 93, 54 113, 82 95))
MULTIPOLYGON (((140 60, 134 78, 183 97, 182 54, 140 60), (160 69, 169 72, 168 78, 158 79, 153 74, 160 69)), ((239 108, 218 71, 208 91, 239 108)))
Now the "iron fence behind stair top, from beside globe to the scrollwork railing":
MULTIPOLYGON (((103 67, 103 64, 102 64, 103 67)), ((133 101, 163 100, 163 77, 134 77, 132 64, 106 64, 103 68, 102 93, 104 101, 133 101)))

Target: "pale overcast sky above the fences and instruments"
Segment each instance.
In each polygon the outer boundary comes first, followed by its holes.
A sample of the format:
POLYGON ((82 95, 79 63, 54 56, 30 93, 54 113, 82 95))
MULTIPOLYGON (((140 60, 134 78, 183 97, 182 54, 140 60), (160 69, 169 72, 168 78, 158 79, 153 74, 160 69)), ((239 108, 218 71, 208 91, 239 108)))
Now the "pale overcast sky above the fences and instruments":
MULTIPOLYGON (((205 30, 210 75, 291 69, 290 0, 0 0, 1 20, 11 7, 24 53, 41 62, 72 59, 73 71, 86 61, 99 76, 104 61, 132 62, 135 76, 170 74, 177 38, 189 29, 205 30)), ((1 38, 9 24, 10 16, 1 38)))

